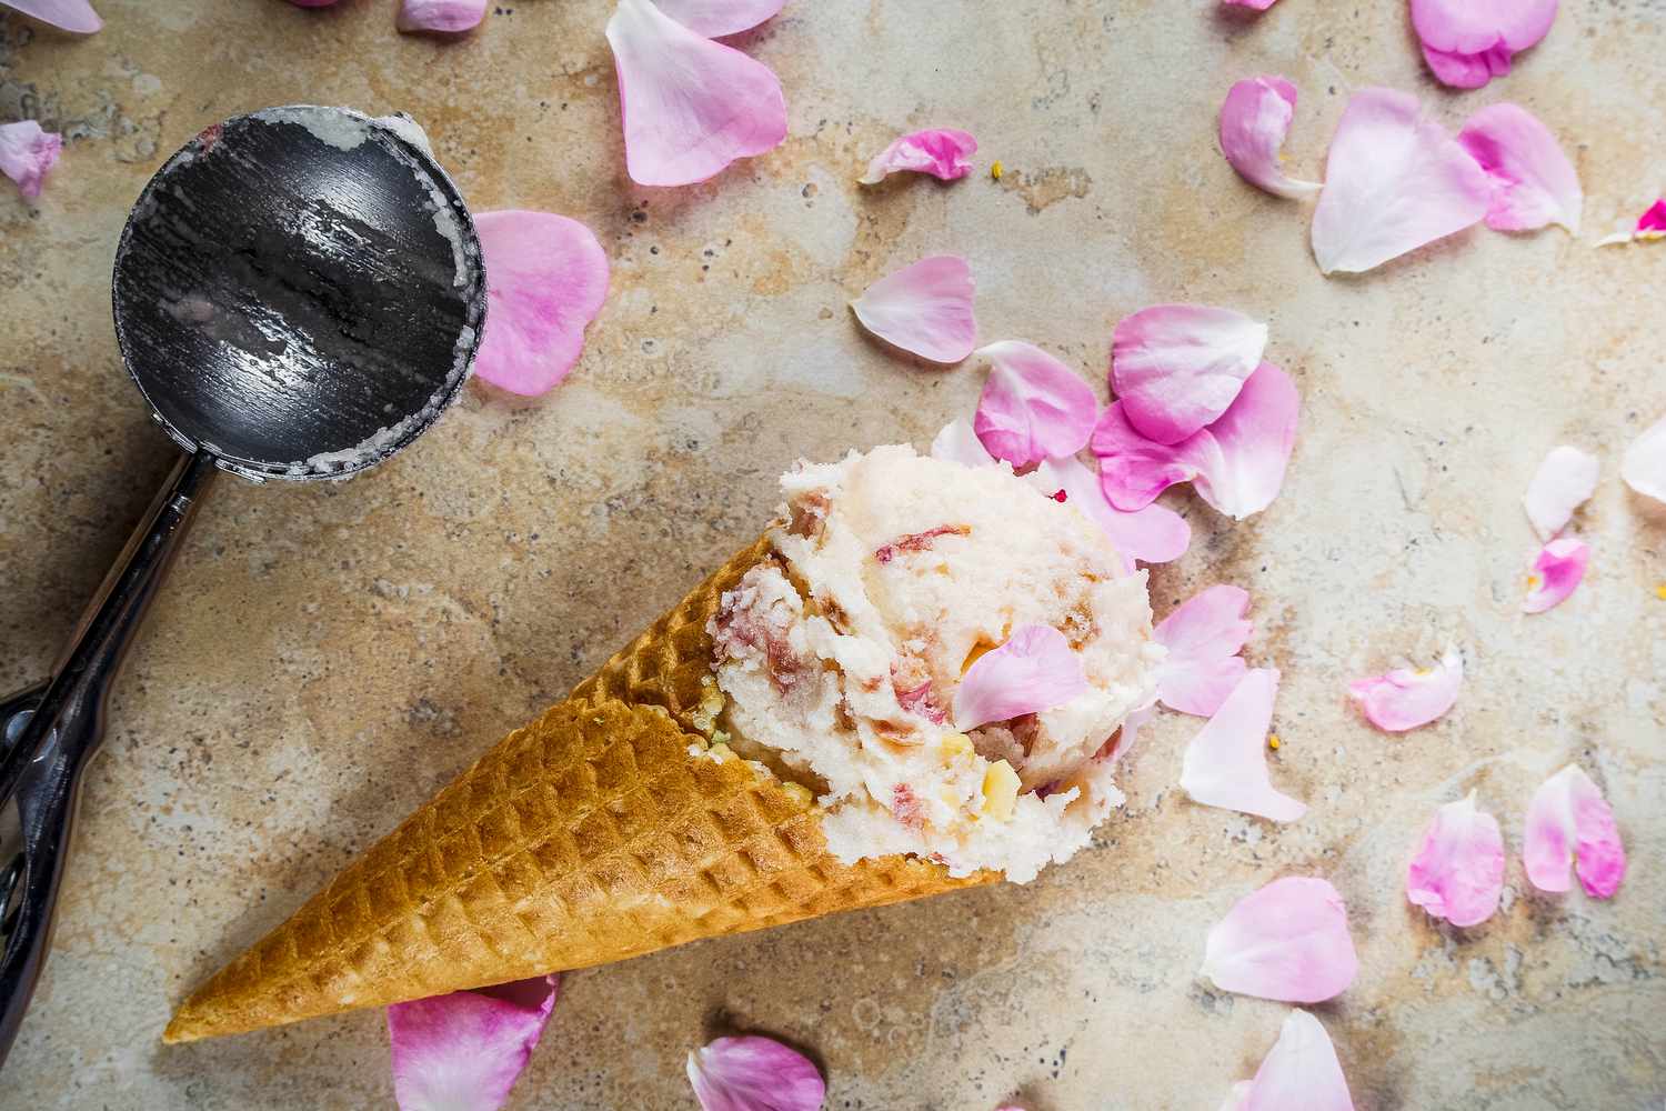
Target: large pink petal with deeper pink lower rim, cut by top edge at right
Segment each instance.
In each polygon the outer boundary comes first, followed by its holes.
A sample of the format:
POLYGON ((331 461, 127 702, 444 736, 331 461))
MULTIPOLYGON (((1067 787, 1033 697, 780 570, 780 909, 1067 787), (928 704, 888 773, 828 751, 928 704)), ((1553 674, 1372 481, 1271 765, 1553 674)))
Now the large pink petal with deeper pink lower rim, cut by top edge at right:
POLYGON ((1556 22, 1556 0, 1411 0, 1423 57, 1446 85, 1479 88, 1556 22))

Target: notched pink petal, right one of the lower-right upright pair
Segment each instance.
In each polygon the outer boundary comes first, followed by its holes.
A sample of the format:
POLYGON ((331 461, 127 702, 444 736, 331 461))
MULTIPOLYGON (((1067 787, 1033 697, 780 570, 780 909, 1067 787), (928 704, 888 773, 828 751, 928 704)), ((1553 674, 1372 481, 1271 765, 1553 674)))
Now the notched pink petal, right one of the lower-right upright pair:
POLYGON ((1579 886, 1593 899, 1613 898, 1626 878, 1626 846, 1619 841, 1614 811, 1591 776, 1568 765, 1528 805, 1521 863, 1539 891, 1566 891, 1568 866, 1576 864, 1579 886))

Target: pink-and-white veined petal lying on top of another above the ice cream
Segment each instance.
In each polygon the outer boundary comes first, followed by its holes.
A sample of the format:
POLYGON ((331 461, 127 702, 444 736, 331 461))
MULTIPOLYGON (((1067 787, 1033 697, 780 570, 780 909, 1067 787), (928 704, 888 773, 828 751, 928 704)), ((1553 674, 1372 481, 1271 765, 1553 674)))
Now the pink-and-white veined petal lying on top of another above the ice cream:
POLYGON ((1111 390, 1143 436, 1180 443, 1220 418, 1261 365, 1266 325, 1230 308, 1153 305, 1111 336, 1111 390))

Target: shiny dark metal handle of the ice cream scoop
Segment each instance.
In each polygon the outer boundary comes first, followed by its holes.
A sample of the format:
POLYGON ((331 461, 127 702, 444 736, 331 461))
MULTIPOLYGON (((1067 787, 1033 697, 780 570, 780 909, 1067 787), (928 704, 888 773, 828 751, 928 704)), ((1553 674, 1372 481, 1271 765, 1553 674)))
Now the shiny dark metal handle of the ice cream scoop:
MULTIPOLYGON (((12 836, 0 838, 0 846, 12 849, 0 853, 0 1064, 47 959, 82 770, 103 740, 110 686, 213 471, 213 456, 202 450, 175 465, 82 616, 52 681, 7 700, 0 805, 7 811, 15 805, 15 825, 12 836)), ((10 825, 12 813, 5 816, 10 825)))

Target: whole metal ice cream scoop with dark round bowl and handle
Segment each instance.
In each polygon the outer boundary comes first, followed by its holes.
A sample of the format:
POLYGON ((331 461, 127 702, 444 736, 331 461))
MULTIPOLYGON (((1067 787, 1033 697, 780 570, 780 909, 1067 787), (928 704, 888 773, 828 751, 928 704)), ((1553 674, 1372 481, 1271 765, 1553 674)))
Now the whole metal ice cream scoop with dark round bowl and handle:
POLYGON ((426 430, 486 313, 475 225, 421 132, 290 107, 210 127, 150 180, 115 331, 185 455, 48 683, 0 701, 0 1061, 40 976, 80 773, 122 656, 217 470, 340 478, 426 430))

